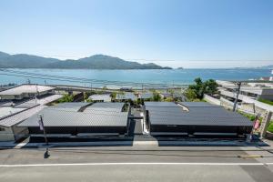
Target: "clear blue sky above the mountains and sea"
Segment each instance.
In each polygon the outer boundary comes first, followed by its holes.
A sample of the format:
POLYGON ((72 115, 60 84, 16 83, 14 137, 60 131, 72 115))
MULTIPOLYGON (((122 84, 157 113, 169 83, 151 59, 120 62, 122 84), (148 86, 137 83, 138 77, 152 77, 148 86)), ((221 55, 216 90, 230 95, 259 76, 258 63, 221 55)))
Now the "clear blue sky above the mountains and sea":
POLYGON ((1 0, 0 51, 173 67, 273 65, 273 1, 1 0))

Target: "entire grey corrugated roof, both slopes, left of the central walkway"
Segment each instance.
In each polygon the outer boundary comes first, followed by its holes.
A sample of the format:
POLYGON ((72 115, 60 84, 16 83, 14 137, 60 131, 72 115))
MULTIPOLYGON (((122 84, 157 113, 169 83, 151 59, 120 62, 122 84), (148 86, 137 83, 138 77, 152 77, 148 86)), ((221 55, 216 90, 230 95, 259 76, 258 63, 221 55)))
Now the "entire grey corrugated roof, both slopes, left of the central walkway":
MULTIPOLYGON (((45 126, 126 126, 127 112, 107 110, 115 108, 110 107, 108 103, 97 103, 94 106, 88 106, 90 103, 64 103, 59 106, 46 107, 21 123, 19 126, 38 126, 37 116, 42 115, 45 126), (106 104, 106 105, 104 105, 106 104), (83 112, 79 108, 86 106, 83 112), (102 108, 102 109, 101 109, 102 108), (103 109, 105 108, 105 109, 103 109)), ((115 103, 114 103, 115 104, 115 103)), ((122 107, 118 103, 119 107, 122 107)))

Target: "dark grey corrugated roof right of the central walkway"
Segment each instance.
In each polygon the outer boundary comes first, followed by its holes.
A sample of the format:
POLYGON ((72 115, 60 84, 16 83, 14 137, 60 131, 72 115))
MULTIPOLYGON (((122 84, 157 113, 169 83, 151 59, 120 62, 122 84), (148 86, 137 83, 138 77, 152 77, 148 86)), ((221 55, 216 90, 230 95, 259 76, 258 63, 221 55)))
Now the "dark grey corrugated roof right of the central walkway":
POLYGON ((248 118, 220 106, 187 103, 187 112, 170 102, 146 102, 145 105, 152 125, 252 126, 248 118))

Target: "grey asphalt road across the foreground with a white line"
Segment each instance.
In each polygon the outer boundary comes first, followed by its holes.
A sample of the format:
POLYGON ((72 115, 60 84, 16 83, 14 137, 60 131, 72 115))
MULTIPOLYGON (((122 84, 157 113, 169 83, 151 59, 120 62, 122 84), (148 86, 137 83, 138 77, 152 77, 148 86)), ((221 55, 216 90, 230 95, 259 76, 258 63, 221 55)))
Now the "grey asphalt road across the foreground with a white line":
POLYGON ((273 181, 273 154, 257 147, 54 148, 49 155, 0 150, 0 181, 273 181))

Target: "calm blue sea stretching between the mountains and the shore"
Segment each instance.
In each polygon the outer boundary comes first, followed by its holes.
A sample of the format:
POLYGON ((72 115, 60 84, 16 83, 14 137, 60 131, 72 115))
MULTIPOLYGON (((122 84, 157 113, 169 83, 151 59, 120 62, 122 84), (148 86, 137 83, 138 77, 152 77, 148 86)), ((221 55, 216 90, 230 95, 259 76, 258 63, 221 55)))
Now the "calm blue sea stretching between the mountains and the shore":
MULTIPOLYGON (((270 69, 173 69, 173 70, 87 70, 87 69, 10 69, 12 71, 27 72, 31 74, 43 74, 50 76, 73 76, 77 78, 154 83, 154 84, 190 84, 196 77, 203 80, 209 78, 221 80, 247 80, 261 76, 271 76, 270 69)), ((0 74, 7 74, 0 71, 0 74)), ((10 73, 9 73, 10 74, 10 73)), ((35 78, 27 74, 31 83, 36 84, 63 84, 90 86, 92 82, 83 79, 82 82, 71 82, 71 80, 52 80, 49 77, 35 78)), ((16 75, 16 74, 12 74, 16 75)), ((23 84, 27 82, 27 76, 5 76, 0 75, 0 84, 23 84)), ((102 84, 93 83, 94 86, 102 84)))

